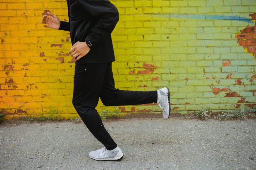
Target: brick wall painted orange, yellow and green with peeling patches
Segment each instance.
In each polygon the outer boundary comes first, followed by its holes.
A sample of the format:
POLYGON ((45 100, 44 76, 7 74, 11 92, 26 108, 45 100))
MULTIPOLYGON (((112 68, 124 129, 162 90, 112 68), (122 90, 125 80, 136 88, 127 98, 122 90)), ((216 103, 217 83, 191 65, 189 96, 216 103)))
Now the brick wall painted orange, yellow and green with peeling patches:
MULTIPOLYGON (((256 107, 255 0, 111 2, 120 13, 112 33, 116 88, 168 86, 173 113, 256 107)), ((48 10, 68 20, 64 0, 0 0, 1 113, 47 114, 52 106, 63 117, 76 114, 69 32, 43 27, 48 10)), ((119 108, 124 114, 161 111, 119 108)))

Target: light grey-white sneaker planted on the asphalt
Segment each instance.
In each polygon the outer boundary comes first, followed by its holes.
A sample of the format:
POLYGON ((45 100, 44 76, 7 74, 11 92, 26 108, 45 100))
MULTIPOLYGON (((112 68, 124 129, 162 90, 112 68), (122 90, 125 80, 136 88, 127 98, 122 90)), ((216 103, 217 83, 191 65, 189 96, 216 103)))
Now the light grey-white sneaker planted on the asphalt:
POLYGON ((122 150, 119 147, 116 147, 113 150, 107 150, 106 147, 101 149, 91 151, 89 157, 98 161, 106 160, 119 160, 124 156, 122 150))

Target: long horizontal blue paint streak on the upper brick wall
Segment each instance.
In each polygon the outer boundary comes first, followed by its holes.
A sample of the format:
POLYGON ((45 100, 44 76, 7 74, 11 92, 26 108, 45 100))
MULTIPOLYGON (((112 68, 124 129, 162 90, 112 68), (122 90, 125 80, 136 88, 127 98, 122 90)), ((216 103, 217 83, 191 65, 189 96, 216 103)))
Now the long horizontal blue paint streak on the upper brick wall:
POLYGON ((235 20, 254 23, 250 18, 226 15, 197 15, 197 14, 170 14, 170 18, 206 19, 206 20, 235 20))

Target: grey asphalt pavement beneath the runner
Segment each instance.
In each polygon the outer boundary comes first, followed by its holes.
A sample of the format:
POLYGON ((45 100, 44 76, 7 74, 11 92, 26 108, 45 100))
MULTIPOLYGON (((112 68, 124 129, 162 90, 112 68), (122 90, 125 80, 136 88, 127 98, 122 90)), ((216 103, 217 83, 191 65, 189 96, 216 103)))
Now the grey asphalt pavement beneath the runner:
POLYGON ((103 121, 120 161, 95 161, 103 147, 83 122, 0 127, 0 169, 256 169, 256 120, 103 121))

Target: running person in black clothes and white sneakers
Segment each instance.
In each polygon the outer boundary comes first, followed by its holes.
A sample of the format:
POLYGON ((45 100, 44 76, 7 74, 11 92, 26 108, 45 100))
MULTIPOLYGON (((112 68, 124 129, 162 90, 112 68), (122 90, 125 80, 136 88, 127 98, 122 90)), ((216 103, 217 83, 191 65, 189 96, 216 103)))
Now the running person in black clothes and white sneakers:
POLYGON ((117 8, 109 0, 67 0, 68 22, 48 12, 41 23, 46 28, 70 32, 75 61, 72 104, 86 127, 103 148, 91 151, 95 160, 119 160, 122 150, 105 129, 95 109, 99 98, 105 106, 158 103, 163 119, 170 116, 170 92, 167 87, 157 91, 125 91, 115 88, 112 62, 115 61, 111 33, 119 21, 117 8))

